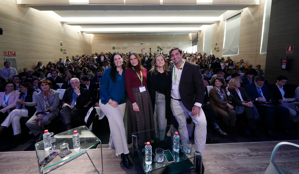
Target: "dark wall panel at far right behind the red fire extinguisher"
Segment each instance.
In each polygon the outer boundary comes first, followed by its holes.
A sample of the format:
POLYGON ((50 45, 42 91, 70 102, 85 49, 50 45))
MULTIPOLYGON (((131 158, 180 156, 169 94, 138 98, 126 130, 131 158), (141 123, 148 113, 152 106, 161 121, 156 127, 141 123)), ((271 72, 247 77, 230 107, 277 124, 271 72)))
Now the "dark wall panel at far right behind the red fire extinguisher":
POLYGON ((294 20, 299 16, 299 1, 272 0, 269 39, 266 58, 266 78, 269 83, 276 83, 277 76, 288 77, 287 83, 299 85, 299 34, 298 22, 294 20), (294 45, 292 54, 286 54, 288 45, 294 45), (289 67, 281 69, 280 60, 289 56, 289 67))

